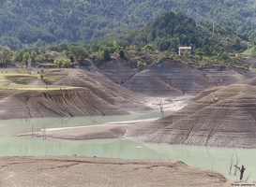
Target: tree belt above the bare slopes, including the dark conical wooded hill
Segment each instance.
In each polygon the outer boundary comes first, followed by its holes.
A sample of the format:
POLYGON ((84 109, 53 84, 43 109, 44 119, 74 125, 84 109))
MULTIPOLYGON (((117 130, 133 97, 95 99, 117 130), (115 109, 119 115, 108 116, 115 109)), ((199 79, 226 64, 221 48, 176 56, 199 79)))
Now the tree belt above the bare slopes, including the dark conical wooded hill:
POLYGON ((147 22, 141 29, 134 29, 112 37, 105 36, 81 43, 55 43, 46 47, 16 51, 0 46, 0 65, 20 64, 27 68, 31 65, 50 63, 61 68, 87 66, 92 63, 103 65, 112 58, 119 58, 124 64, 132 67, 142 65, 145 67, 163 58, 174 58, 179 46, 192 47, 196 56, 189 57, 188 53, 185 53, 185 63, 189 61, 190 65, 196 67, 201 65, 201 61, 212 61, 212 64, 214 62, 219 64, 222 61, 228 63, 230 57, 227 52, 233 54, 233 52, 245 50, 240 40, 230 39, 225 34, 221 34, 220 30, 212 34, 206 27, 198 25, 181 12, 166 12, 154 21, 147 22), (160 51, 165 51, 165 53, 160 51), (154 55, 152 56, 151 53, 154 55), (211 59, 207 60, 206 57, 211 59))

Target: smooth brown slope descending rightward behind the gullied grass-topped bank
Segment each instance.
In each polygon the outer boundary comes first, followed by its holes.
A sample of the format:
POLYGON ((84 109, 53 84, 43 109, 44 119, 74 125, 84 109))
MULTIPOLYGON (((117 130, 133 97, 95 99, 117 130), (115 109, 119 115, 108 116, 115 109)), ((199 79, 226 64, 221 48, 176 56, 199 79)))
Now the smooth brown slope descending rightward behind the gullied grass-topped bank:
POLYGON ((135 94, 113 82, 98 71, 62 70, 65 77, 56 85, 77 86, 89 89, 101 99, 113 106, 124 108, 128 112, 149 110, 143 104, 143 95, 135 94))

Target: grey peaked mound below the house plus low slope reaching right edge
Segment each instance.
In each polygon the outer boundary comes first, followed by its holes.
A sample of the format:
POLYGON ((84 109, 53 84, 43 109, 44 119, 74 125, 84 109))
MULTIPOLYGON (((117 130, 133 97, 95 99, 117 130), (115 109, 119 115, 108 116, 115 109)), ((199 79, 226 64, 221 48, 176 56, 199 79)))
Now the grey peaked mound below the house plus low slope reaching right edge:
POLYGON ((240 68, 198 70, 178 61, 164 59, 130 77, 123 85, 133 92, 150 96, 195 95, 210 86, 243 83, 253 76, 254 72, 240 68))

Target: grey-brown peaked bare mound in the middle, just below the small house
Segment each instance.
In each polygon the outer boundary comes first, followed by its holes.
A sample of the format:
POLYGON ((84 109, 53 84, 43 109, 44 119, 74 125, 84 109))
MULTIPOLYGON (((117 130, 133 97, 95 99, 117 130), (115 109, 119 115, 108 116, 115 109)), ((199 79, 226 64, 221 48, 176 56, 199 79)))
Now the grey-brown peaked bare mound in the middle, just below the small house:
POLYGON ((170 59, 151 65, 124 83, 131 91, 151 96, 198 94, 212 85, 201 72, 170 59))

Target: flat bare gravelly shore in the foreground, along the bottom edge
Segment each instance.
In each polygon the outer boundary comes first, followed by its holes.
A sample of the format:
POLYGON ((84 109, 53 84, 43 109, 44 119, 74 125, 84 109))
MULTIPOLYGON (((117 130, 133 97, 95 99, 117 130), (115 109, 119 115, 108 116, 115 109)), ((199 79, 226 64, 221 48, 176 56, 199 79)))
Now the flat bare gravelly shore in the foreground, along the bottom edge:
POLYGON ((87 157, 0 158, 2 187, 231 186, 214 171, 182 162, 87 157))

